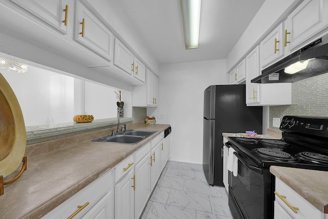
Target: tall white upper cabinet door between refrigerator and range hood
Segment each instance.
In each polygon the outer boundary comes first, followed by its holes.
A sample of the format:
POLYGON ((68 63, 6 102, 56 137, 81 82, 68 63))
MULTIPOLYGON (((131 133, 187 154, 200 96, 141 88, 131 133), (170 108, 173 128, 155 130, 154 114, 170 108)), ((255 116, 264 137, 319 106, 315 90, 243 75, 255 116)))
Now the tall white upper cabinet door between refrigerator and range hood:
POLYGON ((250 52, 246 58, 246 103, 260 102, 260 85, 251 83, 251 79, 260 74, 259 67, 259 48, 258 46, 250 52))

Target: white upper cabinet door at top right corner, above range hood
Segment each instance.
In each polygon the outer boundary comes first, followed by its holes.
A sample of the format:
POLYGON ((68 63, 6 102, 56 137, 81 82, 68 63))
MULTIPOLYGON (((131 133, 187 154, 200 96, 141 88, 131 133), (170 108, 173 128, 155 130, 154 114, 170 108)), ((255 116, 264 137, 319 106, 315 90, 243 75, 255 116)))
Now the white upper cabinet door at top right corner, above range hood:
POLYGON ((305 0, 287 18, 288 50, 328 27, 328 1, 305 0))

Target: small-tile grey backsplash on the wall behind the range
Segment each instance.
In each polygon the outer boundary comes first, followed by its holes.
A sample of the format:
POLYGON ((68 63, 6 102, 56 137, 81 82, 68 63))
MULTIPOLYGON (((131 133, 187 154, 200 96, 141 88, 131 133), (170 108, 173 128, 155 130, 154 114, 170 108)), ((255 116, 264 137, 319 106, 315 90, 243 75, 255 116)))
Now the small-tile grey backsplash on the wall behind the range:
POLYGON ((292 105, 270 106, 269 128, 279 130, 272 126, 272 118, 281 121, 284 115, 328 117, 328 73, 294 82, 292 105))

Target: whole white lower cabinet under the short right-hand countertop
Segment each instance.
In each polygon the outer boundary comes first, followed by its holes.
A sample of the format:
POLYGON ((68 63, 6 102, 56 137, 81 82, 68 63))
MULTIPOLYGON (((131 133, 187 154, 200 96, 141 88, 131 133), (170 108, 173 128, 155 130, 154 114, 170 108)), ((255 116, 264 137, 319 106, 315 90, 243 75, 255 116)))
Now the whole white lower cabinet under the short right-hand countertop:
POLYGON ((275 219, 324 219, 325 214, 276 177, 275 219))

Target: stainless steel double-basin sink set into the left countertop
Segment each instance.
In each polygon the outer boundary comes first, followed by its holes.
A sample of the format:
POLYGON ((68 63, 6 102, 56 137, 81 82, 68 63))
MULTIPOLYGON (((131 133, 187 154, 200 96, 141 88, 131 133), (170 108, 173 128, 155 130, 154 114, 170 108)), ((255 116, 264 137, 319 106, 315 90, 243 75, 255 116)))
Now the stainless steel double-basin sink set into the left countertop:
POLYGON ((115 135, 106 135, 104 137, 99 137, 92 140, 92 142, 109 142, 135 145, 155 132, 156 131, 150 130, 128 130, 126 132, 118 132, 115 135))

